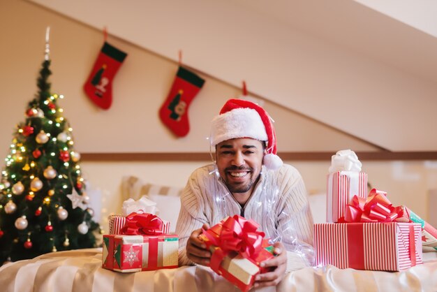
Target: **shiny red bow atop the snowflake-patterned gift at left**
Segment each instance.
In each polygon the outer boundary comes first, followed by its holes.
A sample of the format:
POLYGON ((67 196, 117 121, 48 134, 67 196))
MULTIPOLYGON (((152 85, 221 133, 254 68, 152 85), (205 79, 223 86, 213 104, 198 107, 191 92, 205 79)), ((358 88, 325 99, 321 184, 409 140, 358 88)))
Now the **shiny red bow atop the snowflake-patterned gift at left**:
POLYGON ((131 213, 126 216, 126 223, 121 228, 124 235, 159 235, 163 234, 163 221, 149 213, 131 213))

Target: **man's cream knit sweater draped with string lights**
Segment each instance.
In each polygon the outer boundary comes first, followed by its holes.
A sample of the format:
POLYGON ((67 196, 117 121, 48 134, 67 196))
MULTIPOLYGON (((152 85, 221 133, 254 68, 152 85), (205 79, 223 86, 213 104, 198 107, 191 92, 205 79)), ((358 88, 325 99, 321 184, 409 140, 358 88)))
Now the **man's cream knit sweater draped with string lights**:
POLYGON ((267 170, 263 166, 260 180, 242 208, 211 164, 195 170, 182 191, 176 226, 179 265, 192 264, 186 257, 186 241, 195 229, 204 223, 213 226, 234 214, 253 219, 267 238, 284 244, 288 271, 313 263, 313 217, 304 182, 295 168, 284 164, 279 170, 267 170))

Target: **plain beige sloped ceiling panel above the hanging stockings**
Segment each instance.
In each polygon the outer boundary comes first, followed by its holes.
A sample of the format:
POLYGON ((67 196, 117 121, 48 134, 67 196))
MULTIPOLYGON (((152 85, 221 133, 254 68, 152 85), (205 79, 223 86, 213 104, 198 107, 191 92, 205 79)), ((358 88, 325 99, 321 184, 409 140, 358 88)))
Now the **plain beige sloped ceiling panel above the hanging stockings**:
MULTIPOLYGON (((436 151, 437 39, 350 0, 30 0, 391 151, 436 151)), ((363 1, 362 1, 363 2, 363 1)))

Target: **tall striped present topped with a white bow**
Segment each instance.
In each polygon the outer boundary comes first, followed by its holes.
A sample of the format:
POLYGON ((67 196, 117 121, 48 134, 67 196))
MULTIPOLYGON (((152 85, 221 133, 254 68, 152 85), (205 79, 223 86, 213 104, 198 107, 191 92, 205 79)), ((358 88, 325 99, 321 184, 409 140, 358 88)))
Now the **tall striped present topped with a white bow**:
POLYGON ((367 196, 367 174, 361 172, 355 152, 341 150, 332 156, 327 175, 326 221, 337 222, 353 196, 367 196))

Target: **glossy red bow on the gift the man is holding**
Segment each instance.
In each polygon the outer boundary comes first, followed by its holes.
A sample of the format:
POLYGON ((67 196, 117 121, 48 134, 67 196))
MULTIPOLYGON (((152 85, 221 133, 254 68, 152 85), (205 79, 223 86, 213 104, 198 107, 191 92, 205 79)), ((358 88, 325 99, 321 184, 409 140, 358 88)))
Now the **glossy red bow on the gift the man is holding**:
POLYGON ((244 258, 254 259, 262 249, 262 239, 265 235, 261 231, 256 231, 258 226, 253 220, 234 215, 222 224, 218 237, 204 230, 203 234, 217 247, 211 257, 211 268, 218 268, 230 251, 236 251, 244 258))

